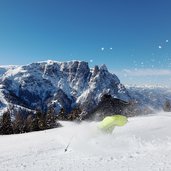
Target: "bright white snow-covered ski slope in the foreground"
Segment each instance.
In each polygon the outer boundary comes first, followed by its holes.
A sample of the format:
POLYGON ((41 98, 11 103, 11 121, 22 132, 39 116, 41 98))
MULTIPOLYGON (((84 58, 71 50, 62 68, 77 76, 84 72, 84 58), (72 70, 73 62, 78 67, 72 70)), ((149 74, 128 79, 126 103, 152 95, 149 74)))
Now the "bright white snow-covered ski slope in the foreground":
POLYGON ((61 128, 0 136, 0 170, 171 170, 171 113, 129 118, 109 135, 97 130, 96 122, 61 123, 61 128))

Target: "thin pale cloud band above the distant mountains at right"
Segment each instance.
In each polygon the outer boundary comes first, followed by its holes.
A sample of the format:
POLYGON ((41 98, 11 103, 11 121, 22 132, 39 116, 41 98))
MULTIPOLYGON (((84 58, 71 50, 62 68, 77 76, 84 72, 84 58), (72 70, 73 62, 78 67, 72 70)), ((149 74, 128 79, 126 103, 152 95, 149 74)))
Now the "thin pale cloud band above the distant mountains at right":
POLYGON ((171 76, 171 70, 169 69, 124 69, 123 74, 127 76, 171 76))

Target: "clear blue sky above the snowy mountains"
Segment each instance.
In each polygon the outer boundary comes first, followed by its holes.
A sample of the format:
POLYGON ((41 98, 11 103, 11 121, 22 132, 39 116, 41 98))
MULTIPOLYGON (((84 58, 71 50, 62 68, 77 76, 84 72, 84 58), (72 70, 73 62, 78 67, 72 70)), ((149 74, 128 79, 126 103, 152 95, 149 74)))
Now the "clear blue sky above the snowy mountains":
POLYGON ((0 0, 0 65, 85 60, 171 85, 170 30, 170 0, 0 0))

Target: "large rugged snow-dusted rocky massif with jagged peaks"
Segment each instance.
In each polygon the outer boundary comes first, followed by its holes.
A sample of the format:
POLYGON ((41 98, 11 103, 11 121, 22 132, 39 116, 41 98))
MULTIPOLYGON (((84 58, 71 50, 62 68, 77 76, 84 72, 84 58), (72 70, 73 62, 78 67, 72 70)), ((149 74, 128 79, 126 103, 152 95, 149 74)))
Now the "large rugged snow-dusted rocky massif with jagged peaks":
POLYGON ((108 94, 129 101, 125 87, 105 65, 90 69, 87 62, 45 61, 26 66, 1 67, 0 108, 10 104, 27 109, 48 107, 70 112, 80 107, 91 112, 108 94))

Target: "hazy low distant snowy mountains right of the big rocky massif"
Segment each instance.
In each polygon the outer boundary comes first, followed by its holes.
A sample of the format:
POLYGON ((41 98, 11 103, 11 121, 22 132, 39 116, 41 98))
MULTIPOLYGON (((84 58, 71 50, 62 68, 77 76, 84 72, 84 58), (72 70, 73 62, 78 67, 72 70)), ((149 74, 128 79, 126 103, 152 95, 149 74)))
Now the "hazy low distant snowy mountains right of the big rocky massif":
MULTIPOLYGON (((171 111, 171 89, 161 86, 126 86, 134 102, 136 113, 148 114, 162 110, 171 111), (165 106, 168 105, 168 106, 165 106), (168 109, 164 109, 164 108, 168 109)), ((137 115, 137 114, 134 115, 137 115)))

